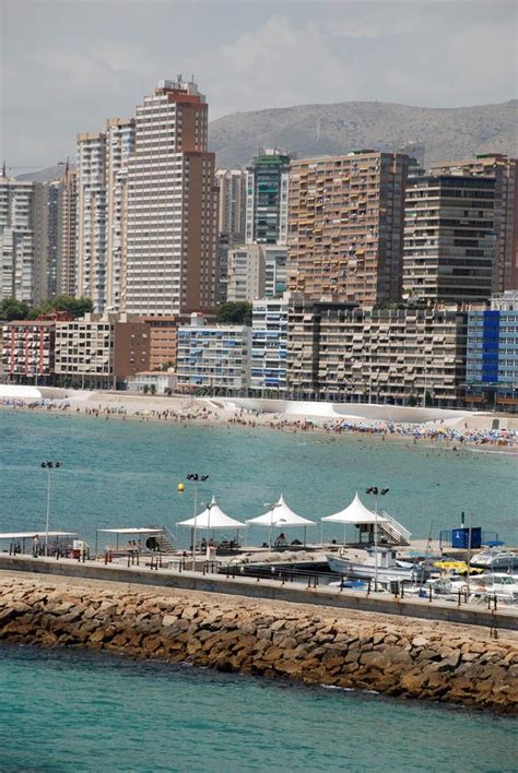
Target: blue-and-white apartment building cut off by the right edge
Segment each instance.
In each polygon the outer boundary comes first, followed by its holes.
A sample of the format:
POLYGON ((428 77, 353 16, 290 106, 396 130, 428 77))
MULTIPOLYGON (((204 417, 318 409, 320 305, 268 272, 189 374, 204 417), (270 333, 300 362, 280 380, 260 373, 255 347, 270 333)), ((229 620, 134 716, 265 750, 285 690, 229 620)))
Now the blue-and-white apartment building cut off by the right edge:
POLYGON ((518 290, 468 312, 466 370, 469 404, 518 412, 518 290))

